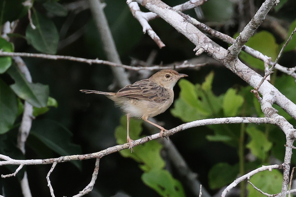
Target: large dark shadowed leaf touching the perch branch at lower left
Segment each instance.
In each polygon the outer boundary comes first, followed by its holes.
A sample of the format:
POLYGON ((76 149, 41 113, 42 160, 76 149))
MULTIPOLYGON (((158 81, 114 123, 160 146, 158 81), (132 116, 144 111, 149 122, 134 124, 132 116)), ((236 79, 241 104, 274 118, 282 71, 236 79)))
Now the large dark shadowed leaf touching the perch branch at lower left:
MULTIPOLYGON (((60 123, 53 120, 35 120, 32 123, 30 134, 37 137, 49 149, 61 156, 81 154, 81 147, 73 144, 73 134, 60 123)), ((71 161, 81 169, 81 161, 71 161)))

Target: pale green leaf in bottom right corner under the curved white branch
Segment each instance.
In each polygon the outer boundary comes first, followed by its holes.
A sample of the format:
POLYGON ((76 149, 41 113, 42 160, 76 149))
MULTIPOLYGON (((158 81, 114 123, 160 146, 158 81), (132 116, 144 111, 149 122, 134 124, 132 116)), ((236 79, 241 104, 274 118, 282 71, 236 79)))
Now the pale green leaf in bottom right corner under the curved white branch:
MULTIPOLYGON (((277 169, 274 169, 271 172, 265 170, 251 176, 250 182, 253 183, 257 188, 260 188, 260 190, 263 192, 276 194, 281 192, 283 174, 277 169)), ((255 188, 253 188, 250 184, 247 185, 247 190, 249 191, 248 197, 266 197, 255 188)))

